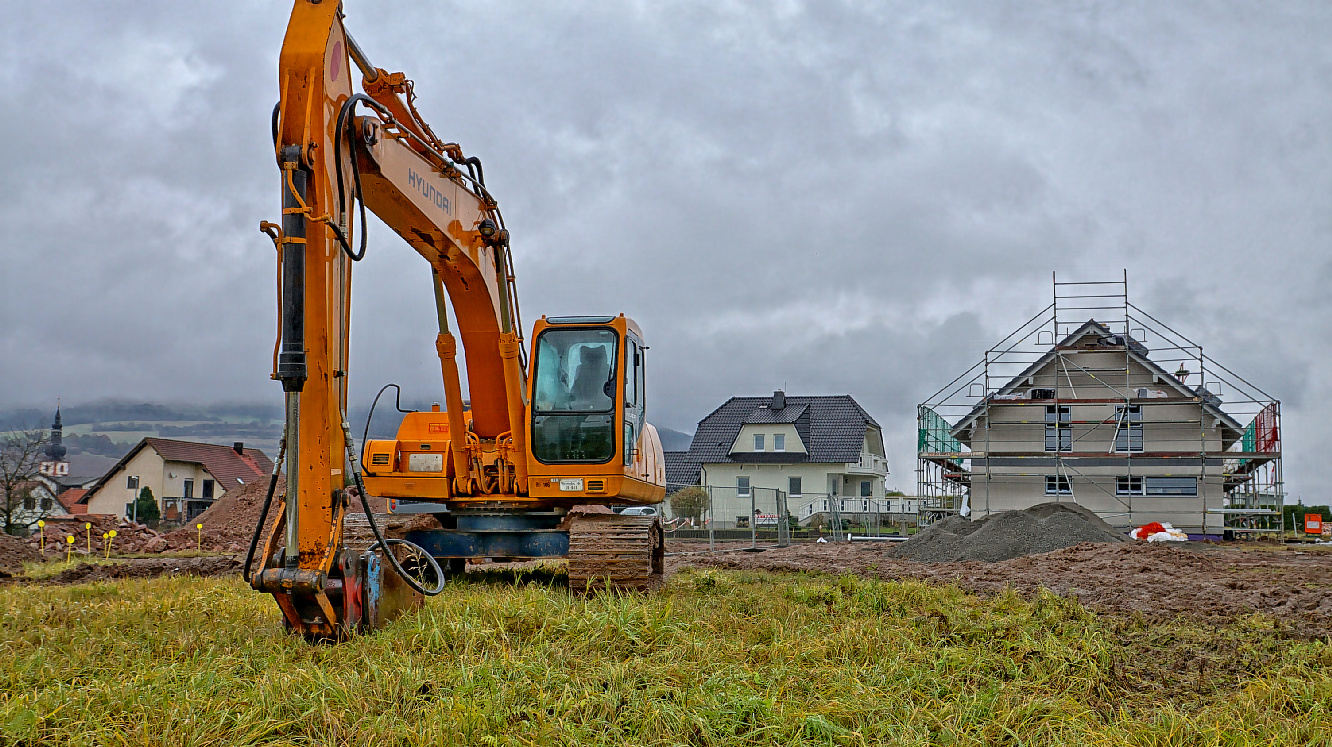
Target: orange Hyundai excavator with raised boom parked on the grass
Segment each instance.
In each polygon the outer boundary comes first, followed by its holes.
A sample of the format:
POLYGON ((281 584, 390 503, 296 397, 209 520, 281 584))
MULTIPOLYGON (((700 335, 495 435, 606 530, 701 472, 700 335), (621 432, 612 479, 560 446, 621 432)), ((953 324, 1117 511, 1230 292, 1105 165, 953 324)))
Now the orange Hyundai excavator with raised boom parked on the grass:
POLYGON ((278 91, 282 218, 260 228, 277 249, 273 378, 286 425, 246 557, 250 585, 312 640, 374 630, 420 607, 472 558, 566 557, 577 591, 655 587, 659 519, 597 509, 665 497, 638 325, 623 314, 542 317, 529 365, 509 232, 481 161, 434 134, 410 80, 370 64, 338 1, 294 1, 278 91), (358 451, 346 419, 348 338, 366 209, 429 265, 445 407, 405 414, 396 439, 362 439, 358 451), (433 518, 386 538, 370 495, 429 505, 433 518), (365 514, 369 547, 344 535, 353 511, 365 514))

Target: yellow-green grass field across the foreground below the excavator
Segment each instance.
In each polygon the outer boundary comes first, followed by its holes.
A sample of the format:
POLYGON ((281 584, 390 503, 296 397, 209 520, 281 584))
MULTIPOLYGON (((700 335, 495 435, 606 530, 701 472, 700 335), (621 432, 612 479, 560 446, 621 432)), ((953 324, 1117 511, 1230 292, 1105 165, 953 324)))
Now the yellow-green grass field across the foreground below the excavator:
POLYGON ((240 579, 0 591, 4 744, 1319 744, 1332 647, 851 578, 460 583, 340 646, 240 579))

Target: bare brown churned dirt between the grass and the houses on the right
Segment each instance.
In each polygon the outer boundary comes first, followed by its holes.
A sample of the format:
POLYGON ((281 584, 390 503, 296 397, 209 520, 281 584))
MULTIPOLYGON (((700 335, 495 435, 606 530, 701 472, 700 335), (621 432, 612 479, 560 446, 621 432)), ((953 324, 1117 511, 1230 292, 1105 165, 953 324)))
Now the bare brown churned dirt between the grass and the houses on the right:
POLYGON ((1332 553, 1289 547, 1240 549, 1191 543, 1083 543, 998 563, 920 563, 884 554, 882 545, 797 545, 762 553, 674 555, 667 573, 687 567, 821 571, 887 581, 955 583, 982 595, 1048 589, 1091 610, 1148 622, 1187 617, 1224 624, 1271 615, 1297 636, 1332 635, 1332 553))

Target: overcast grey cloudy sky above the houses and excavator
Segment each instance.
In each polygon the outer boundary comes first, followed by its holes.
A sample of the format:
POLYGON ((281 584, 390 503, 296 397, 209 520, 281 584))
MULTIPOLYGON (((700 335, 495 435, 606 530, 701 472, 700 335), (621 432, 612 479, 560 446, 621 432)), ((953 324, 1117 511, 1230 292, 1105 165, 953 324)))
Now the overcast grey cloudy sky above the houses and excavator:
MULTIPOLYGON (((650 418, 852 394, 914 487, 914 407, 1050 302, 1132 301, 1283 401, 1328 498, 1332 4, 346 0, 485 162, 534 317, 643 326, 650 418)), ((289 4, 9 3, 0 405, 278 398, 269 112, 289 4)), ((382 225, 353 397, 438 398, 382 225)))

